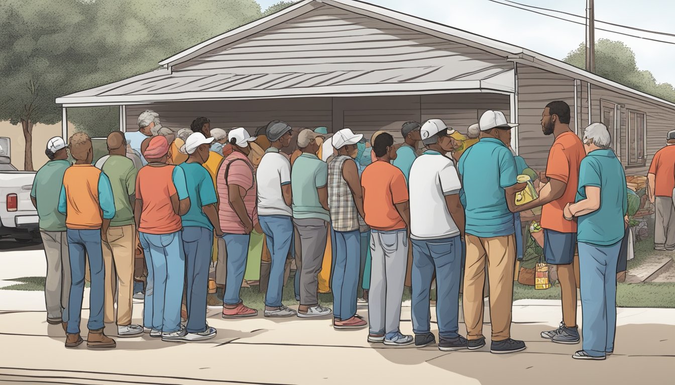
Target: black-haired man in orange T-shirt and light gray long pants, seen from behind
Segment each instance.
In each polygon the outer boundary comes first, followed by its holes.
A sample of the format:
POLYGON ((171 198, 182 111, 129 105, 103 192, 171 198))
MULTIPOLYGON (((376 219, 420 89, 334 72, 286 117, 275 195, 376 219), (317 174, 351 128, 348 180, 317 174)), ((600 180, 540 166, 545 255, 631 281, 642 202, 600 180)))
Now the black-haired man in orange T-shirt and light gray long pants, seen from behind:
POLYGON ((363 171, 363 210, 371 227, 371 283, 368 318, 371 343, 410 345, 412 336, 401 334, 401 299, 408 261, 410 207, 406 177, 391 160, 396 159, 394 138, 375 138, 377 160, 363 171))

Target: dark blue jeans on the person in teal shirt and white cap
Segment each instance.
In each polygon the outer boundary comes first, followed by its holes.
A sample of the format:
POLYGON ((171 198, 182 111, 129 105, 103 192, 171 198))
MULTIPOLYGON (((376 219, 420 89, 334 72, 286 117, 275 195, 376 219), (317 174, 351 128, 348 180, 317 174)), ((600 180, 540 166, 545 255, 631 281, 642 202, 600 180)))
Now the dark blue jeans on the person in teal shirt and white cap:
POLYGON ((205 227, 183 228, 183 249, 187 276, 188 333, 207 330, 207 286, 213 250, 213 231, 205 227))

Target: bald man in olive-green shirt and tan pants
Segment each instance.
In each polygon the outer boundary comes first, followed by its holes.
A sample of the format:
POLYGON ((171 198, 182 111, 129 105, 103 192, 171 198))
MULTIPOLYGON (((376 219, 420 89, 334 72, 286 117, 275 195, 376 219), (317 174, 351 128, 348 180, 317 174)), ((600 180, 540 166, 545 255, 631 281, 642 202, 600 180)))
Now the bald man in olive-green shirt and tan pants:
POLYGON ((134 223, 134 191, 136 173, 134 162, 126 157, 127 142, 124 134, 113 131, 107 140, 108 154, 99 159, 96 167, 110 179, 115 200, 115 216, 110 221, 107 242, 103 242, 105 266, 104 321, 117 322, 117 336, 142 334, 142 326, 131 323, 134 287, 134 249, 136 225, 134 223), (114 262, 114 264, 113 264, 114 262), (114 267, 113 267, 114 266, 114 267), (117 286, 117 317, 115 318, 115 286, 117 286))

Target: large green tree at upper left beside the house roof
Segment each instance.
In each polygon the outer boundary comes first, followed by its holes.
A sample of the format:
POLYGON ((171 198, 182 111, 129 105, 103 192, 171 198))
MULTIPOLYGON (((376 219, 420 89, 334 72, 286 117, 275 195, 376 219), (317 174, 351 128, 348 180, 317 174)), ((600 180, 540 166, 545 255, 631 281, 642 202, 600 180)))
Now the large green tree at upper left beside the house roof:
MULTIPOLYGON (((24 169, 33 169, 34 123, 61 120, 58 96, 151 71, 165 57, 261 16, 254 0, 4 0, 0 120, 23 127, 24 169)), ((78 130, 102 136, 116 126, 116 109, 87 110, 73 111, 78 130)))

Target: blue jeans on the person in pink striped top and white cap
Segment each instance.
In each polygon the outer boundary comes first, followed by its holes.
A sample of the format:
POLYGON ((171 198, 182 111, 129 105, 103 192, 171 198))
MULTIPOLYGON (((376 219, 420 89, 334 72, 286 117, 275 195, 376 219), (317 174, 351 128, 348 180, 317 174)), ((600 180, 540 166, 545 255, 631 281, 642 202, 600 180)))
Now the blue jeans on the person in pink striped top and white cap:
POLYGON ((227 278, 225 278, 223 303, 225 305, 238 305, 242 301, 239 292, 242 290, 244 272, 246 271, 250 235, 225 234, 223 239, 225 240, 225 247, 227 247, 227 278))

